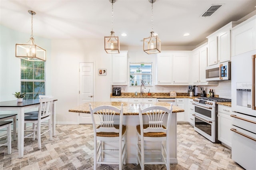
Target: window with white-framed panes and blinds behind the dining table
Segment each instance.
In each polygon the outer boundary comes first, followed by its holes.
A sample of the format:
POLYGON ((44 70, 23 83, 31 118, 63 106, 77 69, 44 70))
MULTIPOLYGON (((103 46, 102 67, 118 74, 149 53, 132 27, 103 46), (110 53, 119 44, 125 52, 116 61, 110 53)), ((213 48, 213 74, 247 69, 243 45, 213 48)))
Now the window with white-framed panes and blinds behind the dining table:
POLYGON ((20 60, 20 91, 24 99, 39 99, 45 94, 45 62, 20 60))

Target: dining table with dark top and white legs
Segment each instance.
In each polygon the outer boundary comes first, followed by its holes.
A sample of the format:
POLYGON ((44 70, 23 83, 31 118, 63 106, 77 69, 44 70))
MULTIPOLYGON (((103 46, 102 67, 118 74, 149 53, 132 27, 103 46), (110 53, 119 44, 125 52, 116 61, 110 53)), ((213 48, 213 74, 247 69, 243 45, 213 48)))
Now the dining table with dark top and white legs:
MULTIPOLYGON (((52 136, 55 136, 55 126, 56 126, 56 101, 54 99, 52 107, 52 136)), ((18 157, 22 158, 24 156, 24 117, 25 111, 28 109, 37 108, 40 105, 39 99, 23 99, 22 102, 17 102, 17 100, 12 101, 1 101, 0 102, 0 114, 2 111, 14 111, 18 114, 18 157)))

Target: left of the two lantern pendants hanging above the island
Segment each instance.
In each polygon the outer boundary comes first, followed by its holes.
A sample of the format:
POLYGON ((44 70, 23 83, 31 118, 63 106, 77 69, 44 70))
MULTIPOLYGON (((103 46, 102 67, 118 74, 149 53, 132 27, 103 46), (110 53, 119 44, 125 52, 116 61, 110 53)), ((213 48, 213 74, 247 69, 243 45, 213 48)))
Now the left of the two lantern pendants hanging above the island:
POLYGON ((112 3, 112 31, 110 32, 110 36, 104 37, 105 51, 107 53, 119 53, 119 40, 118 37, 115 36, 115 32, 113 31, 113 3, 115 3, 116 0, 109 0, 109 2, 112 3))

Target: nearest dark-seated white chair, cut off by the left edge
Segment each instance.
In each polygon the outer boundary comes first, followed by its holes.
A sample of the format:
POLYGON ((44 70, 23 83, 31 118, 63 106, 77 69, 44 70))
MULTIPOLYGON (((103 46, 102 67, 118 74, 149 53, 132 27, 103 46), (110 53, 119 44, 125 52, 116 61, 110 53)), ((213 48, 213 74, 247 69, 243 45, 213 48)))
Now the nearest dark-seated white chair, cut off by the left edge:
POLYGON ((12 121, 0 121, 0 130, 6 128, 6 133, 4 133, 4 132, 0 133, 0 139, 7 137, 7 139, 6 139, 7 142, 6 142, 6 140, 3 140, 5 142, 0 143, 0 147, 7 146, 8 154, 12 153, 12 132, 11 132, 12 127, 11 127, 11 124, 12 124, 12 121))

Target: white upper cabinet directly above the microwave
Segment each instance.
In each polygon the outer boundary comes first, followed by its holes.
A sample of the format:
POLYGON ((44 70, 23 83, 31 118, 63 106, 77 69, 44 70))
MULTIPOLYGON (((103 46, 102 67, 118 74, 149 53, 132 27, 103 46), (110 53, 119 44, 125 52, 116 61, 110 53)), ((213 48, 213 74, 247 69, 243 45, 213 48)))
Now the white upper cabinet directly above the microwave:
POLYGON ((208 66, 230 61, 230 29, 241 22, 230 22, 208 36, 208 66))

